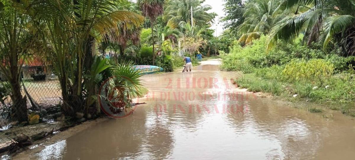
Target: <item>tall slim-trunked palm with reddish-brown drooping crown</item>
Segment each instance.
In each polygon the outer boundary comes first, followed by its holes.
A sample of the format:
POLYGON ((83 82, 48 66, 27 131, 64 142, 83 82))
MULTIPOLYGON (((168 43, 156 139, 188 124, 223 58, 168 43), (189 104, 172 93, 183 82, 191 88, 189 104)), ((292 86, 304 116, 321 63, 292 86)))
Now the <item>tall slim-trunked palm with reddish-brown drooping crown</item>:
MULTIPOLYGON (((165 0, 138 0, 141 5, 143 15, 148 17, 152 26, 152 37, 154 37, 154 22, 159 15, 164 12, 165 0)), ((153 38, 153 65, 155 61, 154 38, 153 38)))

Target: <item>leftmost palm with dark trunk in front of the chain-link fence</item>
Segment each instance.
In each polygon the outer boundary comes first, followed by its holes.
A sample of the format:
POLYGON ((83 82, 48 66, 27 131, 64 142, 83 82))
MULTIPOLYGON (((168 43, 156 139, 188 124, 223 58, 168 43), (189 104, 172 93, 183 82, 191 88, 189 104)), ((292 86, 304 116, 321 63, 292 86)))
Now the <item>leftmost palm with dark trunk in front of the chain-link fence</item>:
POLYGON ((13 2, 2 1, 1 5, 0 72, 11 88, 13 118, 27 121, 27 97, 21 93, 21 72, 37 34, 29 28, 28 17, 16 10, 13 2))

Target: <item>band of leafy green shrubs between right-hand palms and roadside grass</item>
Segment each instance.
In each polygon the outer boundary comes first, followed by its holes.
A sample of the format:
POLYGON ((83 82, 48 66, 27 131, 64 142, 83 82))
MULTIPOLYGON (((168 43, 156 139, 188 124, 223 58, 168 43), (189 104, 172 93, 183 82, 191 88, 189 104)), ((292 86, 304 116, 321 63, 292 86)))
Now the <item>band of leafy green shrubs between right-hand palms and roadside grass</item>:
POLYGON ((233 61, 236 63, 237 60, 249 63, 255 68, 264 68, 273 65, 286 65, 295 59, 326 59, 334 65, 336 72, 348 70, 349 64, 355 65, 354 57, 340 57, 335 52, 326 53, 322 50, 309 48, 303 44, 302 39, 303 35, 300 34, 293 43, 279 41, 268 52, 266 51, 267 36, 261 36, 260 39, 254 40, 245 47, 240 47, 240 44, 235 41, 233 46, 230 47, 230 53, 222 56, 222 61, 226 62, 222 64, 222 68, 225 70, 233 69, 228 65, 231 65, 233 61))

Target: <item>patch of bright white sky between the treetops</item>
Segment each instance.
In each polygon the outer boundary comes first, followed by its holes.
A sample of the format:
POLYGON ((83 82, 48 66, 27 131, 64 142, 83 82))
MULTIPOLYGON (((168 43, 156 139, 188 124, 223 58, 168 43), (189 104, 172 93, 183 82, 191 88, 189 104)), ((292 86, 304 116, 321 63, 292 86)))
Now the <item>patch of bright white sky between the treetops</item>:
POLYGON ((223 23, 219 22, 219 18, 224 16, 223 4, 224 0, 206 0, 203 4, 212 6, 212 9, 209 12, 216 12, 218 17, 215 18, 215 23, 211 27, 211 29, 216 30, 217 28, 217 36, 219 36, 223 32, 223 23), (216 26, 217 25, 217 26, 216 26))

